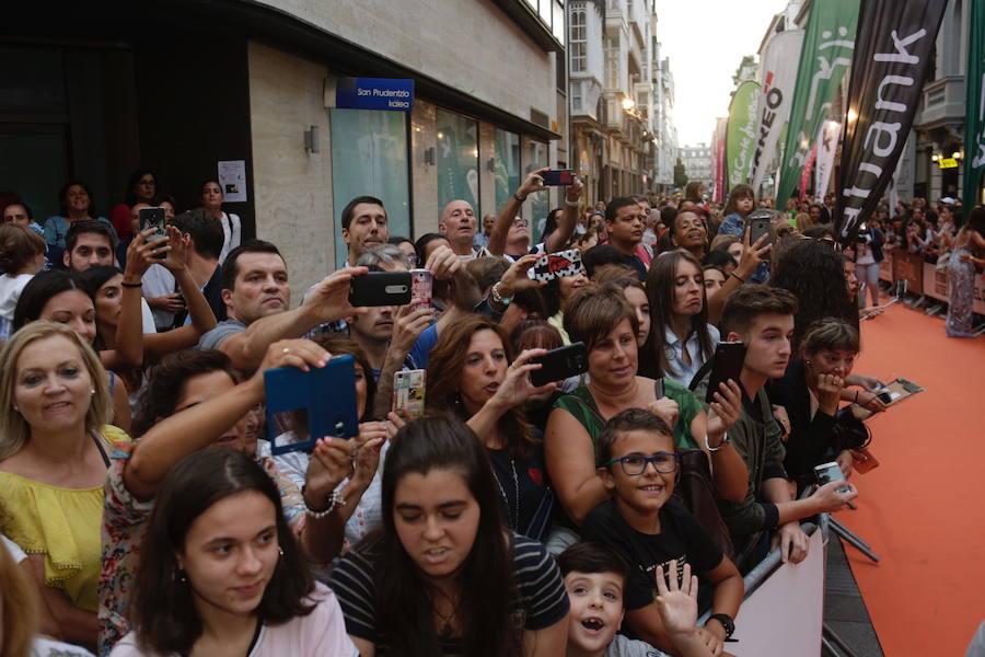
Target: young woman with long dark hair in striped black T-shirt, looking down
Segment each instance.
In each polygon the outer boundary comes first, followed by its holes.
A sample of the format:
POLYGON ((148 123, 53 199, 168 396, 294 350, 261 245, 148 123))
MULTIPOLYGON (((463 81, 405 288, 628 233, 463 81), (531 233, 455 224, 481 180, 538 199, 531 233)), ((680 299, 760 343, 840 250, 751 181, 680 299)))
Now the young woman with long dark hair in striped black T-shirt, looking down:
POLYGON ((503 523, 487 450, 461 422, 402 428, 383 527, 332 574, 362 657, 560 657, 568 597, 543 545, 503 523))

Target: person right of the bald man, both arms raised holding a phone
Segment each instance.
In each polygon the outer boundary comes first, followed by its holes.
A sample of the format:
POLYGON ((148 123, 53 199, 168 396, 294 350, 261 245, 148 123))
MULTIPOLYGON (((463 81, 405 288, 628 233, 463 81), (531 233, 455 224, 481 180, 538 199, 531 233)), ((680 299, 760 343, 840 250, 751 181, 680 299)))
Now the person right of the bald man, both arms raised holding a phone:
POLYGON ((578 223, 578 207, 584 189, 584 185, 577 175, 572 176, 572 182, 565 186, 565 209, 558 218, 557 230, 551 233, 544 242, 531 247, 530 224, 526 219, 520 217, 520 209, 526 197, 548 188, 544 184, 544 174, 548 171, 551 169, 545 166, 531 172, 517 193, 506 201, 489 233, 489 243, 479 255, 505 257, 514 262, 528 253, 560 251, 568 243, 571 235, 575 234, 575 226, 578 223))

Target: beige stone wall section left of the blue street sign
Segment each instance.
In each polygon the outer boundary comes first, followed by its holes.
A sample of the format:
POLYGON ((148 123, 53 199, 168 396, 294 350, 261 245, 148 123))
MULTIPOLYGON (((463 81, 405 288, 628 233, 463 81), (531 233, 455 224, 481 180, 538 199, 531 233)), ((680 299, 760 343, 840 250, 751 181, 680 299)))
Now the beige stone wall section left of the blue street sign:
POLYGON ((256 235, 283 253, 297 306, 311 284, 335 269, 327 71, 255 42, 248 61, 256 235), (313 125, 321 132, 316 154, 304 150, 303 132, 313 125))

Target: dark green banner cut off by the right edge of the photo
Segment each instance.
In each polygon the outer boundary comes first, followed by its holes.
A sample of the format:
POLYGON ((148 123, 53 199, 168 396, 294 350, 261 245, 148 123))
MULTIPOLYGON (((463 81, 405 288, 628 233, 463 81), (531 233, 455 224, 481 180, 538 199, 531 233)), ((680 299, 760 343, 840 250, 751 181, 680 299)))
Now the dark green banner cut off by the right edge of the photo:
POLYGON ((964 126, 964 218, 977 204, 985 172, 985 0, 972 0, 967 25, 967 107, 964 126))

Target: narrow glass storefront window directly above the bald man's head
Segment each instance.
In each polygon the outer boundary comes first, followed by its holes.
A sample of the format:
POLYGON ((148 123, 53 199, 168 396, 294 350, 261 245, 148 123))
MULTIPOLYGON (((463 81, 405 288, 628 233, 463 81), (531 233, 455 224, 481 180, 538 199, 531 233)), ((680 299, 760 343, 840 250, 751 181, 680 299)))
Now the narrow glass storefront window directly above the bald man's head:
POLYGON ((472 204, 476 217, 482 216, 478 175, 478 125, 452 112, 438 110, 438 209, 452 200, 472 204))

